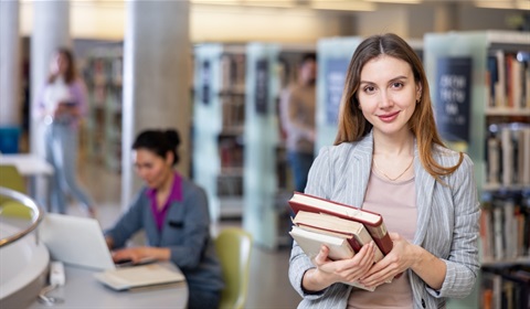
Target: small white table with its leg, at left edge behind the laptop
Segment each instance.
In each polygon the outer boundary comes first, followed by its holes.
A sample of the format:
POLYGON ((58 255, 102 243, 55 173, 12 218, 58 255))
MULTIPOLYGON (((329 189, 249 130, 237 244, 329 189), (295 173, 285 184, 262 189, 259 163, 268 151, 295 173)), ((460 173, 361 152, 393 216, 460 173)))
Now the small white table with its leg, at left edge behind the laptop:
POLYGON ((30 179, 29 195, 41 202, 50 210, 50 177, 53 175, 53 167, 44 159, 33 153, 0 154, 0 164, 15 166, 19 173, 30 179), (42 192, 38 193, 36 180, 44 178, 42 192), (45 195, 45 198, 42 198, 45 195))

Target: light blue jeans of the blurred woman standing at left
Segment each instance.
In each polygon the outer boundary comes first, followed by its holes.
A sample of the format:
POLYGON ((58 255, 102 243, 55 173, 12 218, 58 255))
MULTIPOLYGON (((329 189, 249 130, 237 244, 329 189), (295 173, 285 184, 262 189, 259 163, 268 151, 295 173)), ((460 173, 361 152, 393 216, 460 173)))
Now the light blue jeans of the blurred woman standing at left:
POLYGON ((51 184, 50 211, 66 213, 66 193, 80 201, 88 210, 93 200, 77 184, 77 130, 70 125, 53 122, 46 127, 46 160, 54 168, 51 184))

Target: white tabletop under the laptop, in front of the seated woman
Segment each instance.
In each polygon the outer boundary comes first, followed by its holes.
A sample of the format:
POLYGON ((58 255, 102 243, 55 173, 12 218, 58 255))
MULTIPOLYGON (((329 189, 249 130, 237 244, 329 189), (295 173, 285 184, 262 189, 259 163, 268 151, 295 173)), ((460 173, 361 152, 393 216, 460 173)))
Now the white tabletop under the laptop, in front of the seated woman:
POLYGON ((64 302, 46 306, 35 300, 29 309, 186 308, 188 303, 186 281, 160 288, 115 291, 97 281, 94 270, 66 265, 64 269, 66 285, 46 294, 47 297, 62 298, 64 302))

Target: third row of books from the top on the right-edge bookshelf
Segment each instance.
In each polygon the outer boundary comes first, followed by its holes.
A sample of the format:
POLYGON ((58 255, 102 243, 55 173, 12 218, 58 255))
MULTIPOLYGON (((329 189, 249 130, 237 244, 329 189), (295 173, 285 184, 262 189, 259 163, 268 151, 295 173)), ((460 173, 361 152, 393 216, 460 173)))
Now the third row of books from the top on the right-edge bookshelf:
POLYGON ((530 192, 486 195, 480 217, 485 263, 530 263, 530 192))

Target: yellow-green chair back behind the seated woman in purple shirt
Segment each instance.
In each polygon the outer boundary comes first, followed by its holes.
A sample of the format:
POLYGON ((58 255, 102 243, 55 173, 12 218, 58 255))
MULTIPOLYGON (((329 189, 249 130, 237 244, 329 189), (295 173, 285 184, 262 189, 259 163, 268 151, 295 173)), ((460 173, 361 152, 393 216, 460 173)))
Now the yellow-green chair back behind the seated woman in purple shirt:
POLYGON ((244 308, 248 291, 252 244, 251 234, 239 227, 222 230, 216 237, 215 248, 225 285, 220 308, 244 308))

